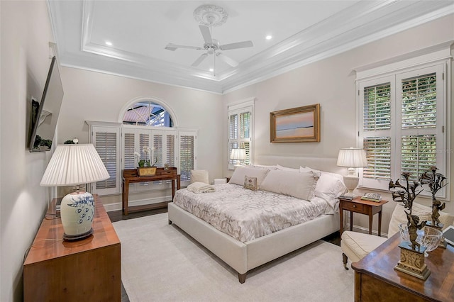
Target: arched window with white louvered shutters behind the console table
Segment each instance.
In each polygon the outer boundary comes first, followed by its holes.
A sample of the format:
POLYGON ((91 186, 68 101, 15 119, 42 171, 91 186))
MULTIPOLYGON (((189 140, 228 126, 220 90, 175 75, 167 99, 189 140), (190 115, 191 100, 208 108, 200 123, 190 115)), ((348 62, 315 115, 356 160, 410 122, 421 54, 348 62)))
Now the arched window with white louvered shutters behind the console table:
MULTIPOLYGON (((174 128, 170 113, 153 101, 140 101, 126 108, 122 123, 87 121, 90 142, 106 165, 110 178, 93 184, 92 193, 120 194, 123 169, 135 169, 134 152, 145 159, 143 147, 152 148, 151 163, 156 167, 177 167, 182 186, 189 184, 190 170, 196 169, 196 130, 174 128)), ((167 189, 167 181, 143 181, 130 185, 130 191, 167 189)))

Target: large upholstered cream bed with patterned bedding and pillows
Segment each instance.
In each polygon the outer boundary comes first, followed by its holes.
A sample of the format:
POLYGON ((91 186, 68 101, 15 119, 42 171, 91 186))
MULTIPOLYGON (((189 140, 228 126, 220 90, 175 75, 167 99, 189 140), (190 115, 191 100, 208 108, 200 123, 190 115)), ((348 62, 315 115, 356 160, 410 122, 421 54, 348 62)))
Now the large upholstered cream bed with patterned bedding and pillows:
MULTIPOLYGON (((187 189, 179 190, 175 194, 174 201, 168 204, 169 223, 175 223, 201 245, 213 252, 214 255, 222 259, 223 262, 235 269, 238 272, 238 281, 244 283, 247 272, 251 269, 339 230, 336 196, 345 192, 341 176, 336 173, 319 172, 317 177, 317 171, 312 170, 315 182, 306 185, 306 190, 303 189, 302 193, 301 186, 296 186, 297 192, 295 193, 292 189, 289 192, 285 191, 286 189, 282 184, 280 186, 275 184, 279 182, 277 179, 282 182, 282 179, 286 179, 286 177, 287 180, 295 179, 294 177, 297 177, 298 181, 304 179, 304 177, 307 179, 309 174, 306 172, 308 171, 304 168, 291 169, 279 165, 248 167, 247 171, 236 169, 230 183, 217 184, 215 193, 194 194, 187 189), (250 169, 267 170, 267 172, 265 177, 260 177, 263 172, 258 172, 256 174, 258 177, 251 177, 250 174, 254 174, 254 172, 250 169), (279 172, 275 172, 276 170, 279 172), (304 177, 296 174, 298 172, 304 174, 304 177), (245 177, 258 179, 258 191, 243 187, 245 177), (326 181, 327 179, 330 181, 326 181), (271 187, 270 184, 272 184, 271 187), (326 187, 327 185, 328 187, 326 187), (314 189, 312 192, 311 188, 314 189), (284 191, 284 194, 281 191, 284 191), (301 194, 303 194, 302 197, 305 197, 304 194, 306 193, 309 194, 307 196, 310 197, 310 201, 299 198, 301 194), (238 218, 239 222, 232 222, 233 213, 231 208, 228 208, 229 199, 234 201, 233 208, 242 210, 240 212, 243 213, 243 216, 238 218), (261 223, 248 221, 248 216, 254 212, 255 206, 260 203, 260 200, 265 199, 271 200, 274 207, 279 203, 285 203, 284 214, 282 214, 285 219, 276 218, 273 216, 274 214, 271 214, 272 219, 274 219, 271 226, 268 224, 265 230, 250 230, 254 225, 261 223), (329 201, 326 201, 326 199, 329 199, 329 201), (294 207, 298 203, 304 206, 295 210, 294 207), (208 208, 204 208, 203 204, 208 208), (300 215, 304 217, 299 217, 292 211, 308 215, 300 215), (218 225, 216 225, 214 216, 223 216, 223 223, 218 222, 218 225), (295 219, 291 220, 287 216, 293 216, 295 219), (283 223, 279 224, 279 220, 282 220, 283 223), (227 226, 227 228, 222 230, 219 225, 227 226)), ((293 183, 295 182, 297 181, 293 181, 293 183)), ((257 211, 270 213, 265 208, 259 208, 257 211)), ((275 211, 275 208, 273 208, 273 211, 275 211)), ((266 219, 270 219, 270 216, 266 219)))

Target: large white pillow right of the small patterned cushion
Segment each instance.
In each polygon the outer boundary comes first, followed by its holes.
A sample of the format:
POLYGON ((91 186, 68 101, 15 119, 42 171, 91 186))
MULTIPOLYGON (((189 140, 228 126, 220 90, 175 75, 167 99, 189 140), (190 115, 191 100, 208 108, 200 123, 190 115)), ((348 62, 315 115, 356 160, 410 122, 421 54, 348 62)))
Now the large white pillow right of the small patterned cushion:
POLYGON ((260 189, 311 201, 318 177, 314 172, 270 170, 260 189))

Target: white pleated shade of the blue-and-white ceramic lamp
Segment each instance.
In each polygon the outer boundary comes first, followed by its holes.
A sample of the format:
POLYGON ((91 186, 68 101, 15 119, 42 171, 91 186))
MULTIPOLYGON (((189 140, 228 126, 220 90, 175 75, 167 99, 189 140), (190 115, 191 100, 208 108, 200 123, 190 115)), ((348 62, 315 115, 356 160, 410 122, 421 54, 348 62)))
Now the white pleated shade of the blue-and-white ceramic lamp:
POLYGON ((104 179, 109 179, 109 172, 94 145, 58 145, 40 186, 75 186, 104 179))

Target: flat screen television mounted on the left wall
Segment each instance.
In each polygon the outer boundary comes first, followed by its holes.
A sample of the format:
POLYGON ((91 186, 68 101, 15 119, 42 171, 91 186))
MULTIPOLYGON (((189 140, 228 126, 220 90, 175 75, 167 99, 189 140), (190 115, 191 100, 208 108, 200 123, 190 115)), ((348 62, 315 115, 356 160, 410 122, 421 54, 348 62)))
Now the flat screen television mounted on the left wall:
POLYGON ((63 101, 63 86, 55 57, 52 57, 43 96, 38 102, 32 98, 30 118, 30 152, 49 151, 57 127, 58 114, 63 101))

